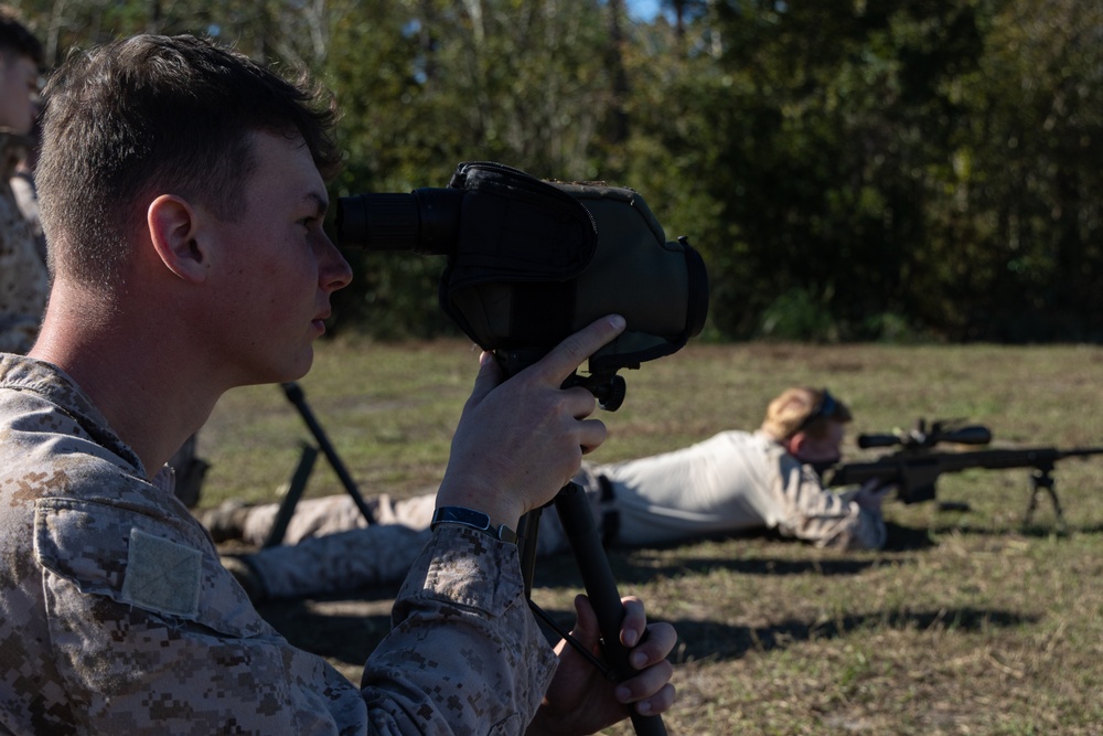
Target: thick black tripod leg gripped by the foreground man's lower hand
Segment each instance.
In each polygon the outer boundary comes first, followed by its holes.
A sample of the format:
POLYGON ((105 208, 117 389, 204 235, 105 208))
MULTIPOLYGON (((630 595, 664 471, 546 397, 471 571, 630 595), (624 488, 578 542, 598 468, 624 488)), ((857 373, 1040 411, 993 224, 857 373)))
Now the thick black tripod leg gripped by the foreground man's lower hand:
MULTIPOLYGON (((628 662, 628 649, 620 641, 624 607, 617 591, 609 558, 601 546, 601 537, 586 500, 586 492, 578 483, 568 483, 556 495, 555 508, 582 575, 586 595, 598 616, 606 660, 619 680, 628 680, 635 671, 628 662)), ((665 736, 666 726, 662 716, 644 716, 633 711, 631 717, 635 733, 640 736, 665 736)))

